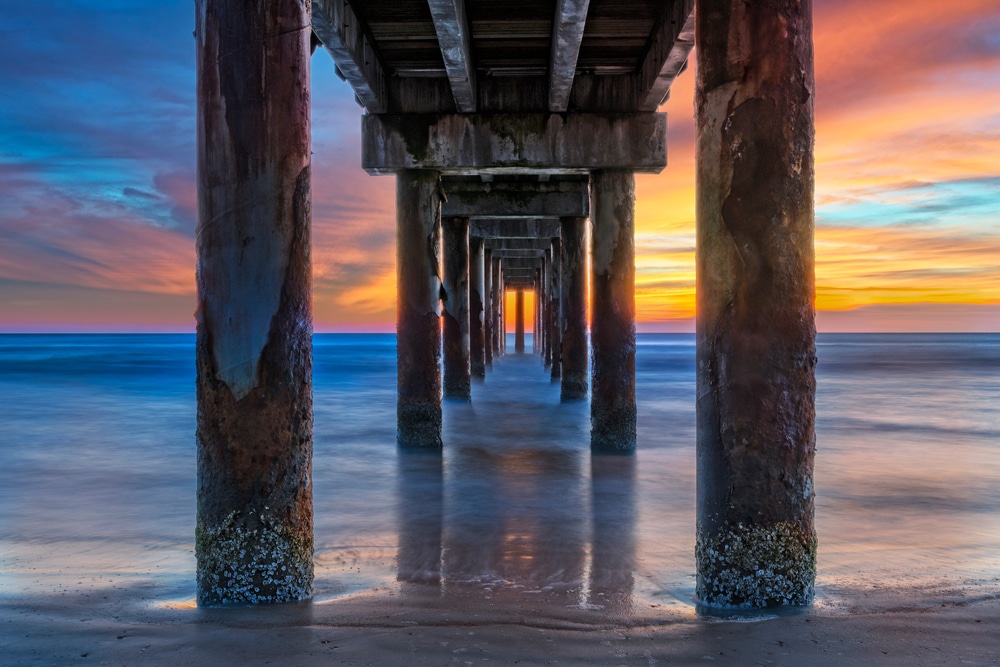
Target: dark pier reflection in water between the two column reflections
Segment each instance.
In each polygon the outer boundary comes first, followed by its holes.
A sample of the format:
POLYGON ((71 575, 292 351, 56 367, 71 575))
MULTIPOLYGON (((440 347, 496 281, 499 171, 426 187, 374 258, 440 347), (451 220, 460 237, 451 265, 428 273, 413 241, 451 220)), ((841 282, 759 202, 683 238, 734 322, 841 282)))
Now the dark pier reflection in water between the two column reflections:
POLYGON ((581 458, 565 449, 457 450, 447 493, 446 592, 478 584, 491 597, 575 604, 586 554, 581 458))

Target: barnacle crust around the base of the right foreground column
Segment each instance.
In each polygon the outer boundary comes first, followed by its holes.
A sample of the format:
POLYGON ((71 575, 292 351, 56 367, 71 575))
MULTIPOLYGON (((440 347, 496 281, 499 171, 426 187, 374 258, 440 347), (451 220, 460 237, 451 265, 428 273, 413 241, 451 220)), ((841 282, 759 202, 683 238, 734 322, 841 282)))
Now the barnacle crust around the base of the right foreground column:
POLYGON ((798 525, 723 531, 695 549, 697 598, 709 607, 761 609, 812 602, 816 536, 798 525))

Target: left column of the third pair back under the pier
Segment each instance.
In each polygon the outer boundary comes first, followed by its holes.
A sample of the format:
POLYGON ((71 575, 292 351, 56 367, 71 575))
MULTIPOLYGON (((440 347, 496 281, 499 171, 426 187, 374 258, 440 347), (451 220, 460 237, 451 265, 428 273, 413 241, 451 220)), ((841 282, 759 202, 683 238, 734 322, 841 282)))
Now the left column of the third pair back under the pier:
POLYGON ((472 399, 469 363, 469 219, 446 218, 444 236, 444 396, 472 399))

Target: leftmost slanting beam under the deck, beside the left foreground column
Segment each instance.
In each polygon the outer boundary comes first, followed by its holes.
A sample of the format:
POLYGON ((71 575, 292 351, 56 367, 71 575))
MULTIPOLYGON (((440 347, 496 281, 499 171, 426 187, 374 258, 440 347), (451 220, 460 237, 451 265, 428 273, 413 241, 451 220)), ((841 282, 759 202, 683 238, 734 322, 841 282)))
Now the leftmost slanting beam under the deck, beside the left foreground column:
POLYGON ((358 102, 368 113, 389 109, 385 69, 365 34, 361 20, 346 0, 313 0, 313 32, 323 42, 358 102))

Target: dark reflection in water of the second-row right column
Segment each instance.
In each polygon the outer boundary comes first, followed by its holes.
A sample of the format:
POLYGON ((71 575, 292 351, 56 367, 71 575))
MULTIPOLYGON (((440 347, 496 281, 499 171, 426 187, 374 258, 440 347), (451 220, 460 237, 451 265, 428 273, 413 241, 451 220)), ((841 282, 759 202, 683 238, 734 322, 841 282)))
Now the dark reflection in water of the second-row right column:
POLYGON ((611 613, 632 609, 635 571, 635 456, 590 459, 592 551, 587 603, 611 613))

